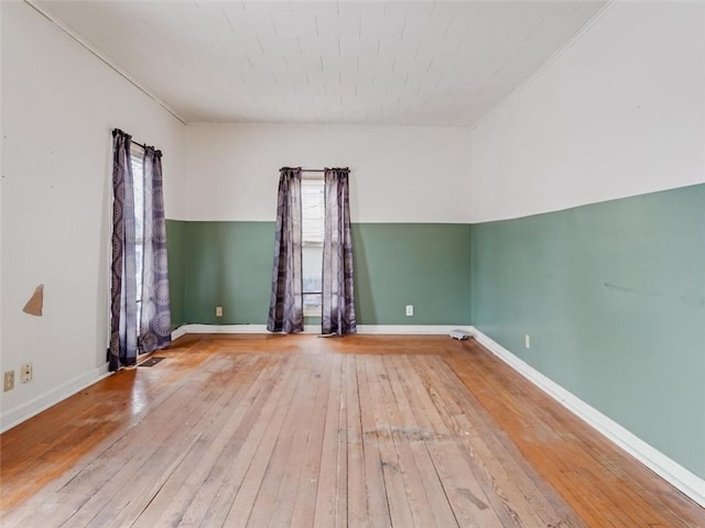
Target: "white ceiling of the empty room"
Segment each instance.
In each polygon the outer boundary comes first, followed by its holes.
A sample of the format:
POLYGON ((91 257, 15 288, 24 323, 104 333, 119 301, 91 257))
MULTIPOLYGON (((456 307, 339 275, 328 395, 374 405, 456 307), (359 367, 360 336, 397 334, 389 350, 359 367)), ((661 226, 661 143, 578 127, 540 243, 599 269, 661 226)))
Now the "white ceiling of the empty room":
POLYGON ((40 1, 184 122, 471 125, 605 1, 40 1))

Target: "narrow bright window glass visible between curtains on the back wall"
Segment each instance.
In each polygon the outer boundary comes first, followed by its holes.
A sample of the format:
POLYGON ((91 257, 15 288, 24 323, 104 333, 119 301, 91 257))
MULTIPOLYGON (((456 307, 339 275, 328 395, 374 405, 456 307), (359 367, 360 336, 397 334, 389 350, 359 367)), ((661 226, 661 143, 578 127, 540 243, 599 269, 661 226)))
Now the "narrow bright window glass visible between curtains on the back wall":
POLYGON ((304 316, 321 317, 323 234, 325 222, 323 178, 301 182, 302 275, 304 316))

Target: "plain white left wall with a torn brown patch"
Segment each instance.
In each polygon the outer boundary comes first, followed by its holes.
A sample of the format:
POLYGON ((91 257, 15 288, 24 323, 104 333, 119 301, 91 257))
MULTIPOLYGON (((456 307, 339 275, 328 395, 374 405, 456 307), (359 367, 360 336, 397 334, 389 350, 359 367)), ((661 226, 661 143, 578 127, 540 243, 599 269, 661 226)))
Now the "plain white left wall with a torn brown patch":
POLYGON ((106 366, 112 128, 163 151, 181 216, 184 125, 23 2, 2 2, 2 427, 106 366), (44 317, 22 307, 45 285, 44 317))

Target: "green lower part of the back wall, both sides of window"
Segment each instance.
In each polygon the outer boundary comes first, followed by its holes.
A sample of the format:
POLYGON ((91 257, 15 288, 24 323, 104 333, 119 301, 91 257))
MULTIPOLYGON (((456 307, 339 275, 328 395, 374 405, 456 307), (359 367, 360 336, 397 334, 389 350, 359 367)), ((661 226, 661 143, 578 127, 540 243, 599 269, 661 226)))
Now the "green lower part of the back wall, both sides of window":
MULTIPOLYGON (((167 230, 175 321, 267 323, 274 222, 170 220, 167 230)), ((469 324, 469 226, 356 223, 352 241, 358 324, 469 324), (414 305, 413 317, 405 305, 414 305)))

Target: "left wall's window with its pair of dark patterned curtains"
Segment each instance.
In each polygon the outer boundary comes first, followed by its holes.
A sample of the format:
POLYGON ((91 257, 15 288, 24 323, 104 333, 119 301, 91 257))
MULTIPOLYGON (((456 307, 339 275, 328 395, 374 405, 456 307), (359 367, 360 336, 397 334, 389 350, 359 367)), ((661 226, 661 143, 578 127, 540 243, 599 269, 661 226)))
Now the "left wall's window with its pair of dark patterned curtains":
POLYGON ((171 343, 162 153, 112 131, 111 371, 171 343))

